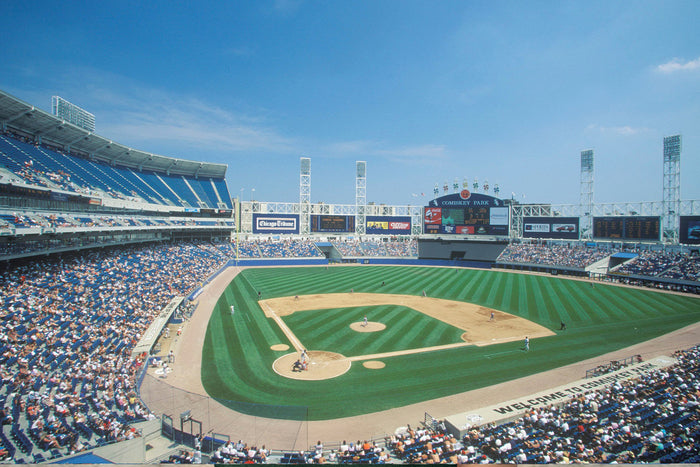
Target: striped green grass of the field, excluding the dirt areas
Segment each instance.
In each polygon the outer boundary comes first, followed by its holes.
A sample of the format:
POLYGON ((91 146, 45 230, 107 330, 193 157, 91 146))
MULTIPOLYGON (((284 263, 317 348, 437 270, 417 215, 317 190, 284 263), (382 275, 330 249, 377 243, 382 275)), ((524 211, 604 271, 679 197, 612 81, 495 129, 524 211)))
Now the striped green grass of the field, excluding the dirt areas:
MULTIPOLYGON (((285 323, 312 350, 345 356, 458 342, 461 331, 400 306, 297 312, 285 323), (388 327, 354 333, 364 314, 388 327), (374 335, 373 335, 374 334, 374 335)), ((275 418, 324 420, 371 413, 490 386, 643 342, 700 319, 700 299, 652 290, 489 270, 393 266, 247 269, 219 299, 202 351, 202 381, 212 397, 238 411, 275 418), (382 281, 386 285, 382 286, 382 281), (349 292, 429 296, 512 313, 556 332, 521 342, 386 358, 381 370, 353 363, 324 381, 283 378, 272 362, 289 344, 265 318, 263 298, 349 292), (231 315, 230 306, 235 305, 231 315), (560 321, 568 329, 558 331, 560 321)), ((582 377, 584 375, 581 375, 582 377)), ((458 410, 457 408, 455 410, 458 410)))

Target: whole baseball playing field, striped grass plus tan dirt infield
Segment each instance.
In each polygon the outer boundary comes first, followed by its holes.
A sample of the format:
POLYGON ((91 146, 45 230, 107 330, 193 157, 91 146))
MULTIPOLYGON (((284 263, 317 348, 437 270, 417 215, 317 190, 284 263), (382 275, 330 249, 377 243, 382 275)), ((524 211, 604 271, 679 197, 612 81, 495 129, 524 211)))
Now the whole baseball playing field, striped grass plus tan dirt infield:
POLYGON ((251 268, 214 307, 201 376, 239 412, 329 420, 540 373, 698 321, 697 297, 552 276, 251 268), (292 371, 302 349, 307 369, 292 371))

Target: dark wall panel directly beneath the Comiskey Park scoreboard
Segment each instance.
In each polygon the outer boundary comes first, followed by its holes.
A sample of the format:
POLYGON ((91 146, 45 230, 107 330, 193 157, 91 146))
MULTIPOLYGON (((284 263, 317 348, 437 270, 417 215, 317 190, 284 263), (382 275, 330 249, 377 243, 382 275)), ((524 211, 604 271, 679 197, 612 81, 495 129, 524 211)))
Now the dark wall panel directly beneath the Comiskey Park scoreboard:
POLYGON ((495 263, 507 246, 507 240, 419 238, 418 259, 495 263))

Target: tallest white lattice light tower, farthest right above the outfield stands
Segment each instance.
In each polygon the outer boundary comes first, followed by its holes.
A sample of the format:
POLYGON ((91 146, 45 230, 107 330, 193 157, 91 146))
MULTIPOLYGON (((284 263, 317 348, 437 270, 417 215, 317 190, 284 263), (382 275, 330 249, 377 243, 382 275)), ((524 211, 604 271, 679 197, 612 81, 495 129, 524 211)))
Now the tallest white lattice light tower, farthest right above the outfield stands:
POLYGON ((663 240, 678 243, 681 208, 681 135, 664 138, 663 240))

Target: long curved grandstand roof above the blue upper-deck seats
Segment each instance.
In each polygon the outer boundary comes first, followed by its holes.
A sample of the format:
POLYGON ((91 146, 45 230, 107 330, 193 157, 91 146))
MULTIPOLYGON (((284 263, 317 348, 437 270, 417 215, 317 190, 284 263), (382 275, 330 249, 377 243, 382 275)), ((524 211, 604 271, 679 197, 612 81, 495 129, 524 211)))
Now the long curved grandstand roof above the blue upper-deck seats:
POLYGON ((112 165, 173 175, 224 178, 226 164, 212 164, 160 156, 116 143, 68 123, 0 90, 0 124, 41 138, 65 150, 75 150, 112 165))

